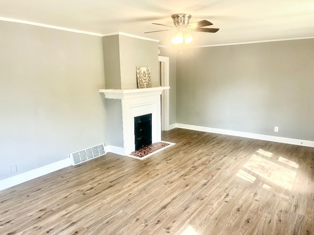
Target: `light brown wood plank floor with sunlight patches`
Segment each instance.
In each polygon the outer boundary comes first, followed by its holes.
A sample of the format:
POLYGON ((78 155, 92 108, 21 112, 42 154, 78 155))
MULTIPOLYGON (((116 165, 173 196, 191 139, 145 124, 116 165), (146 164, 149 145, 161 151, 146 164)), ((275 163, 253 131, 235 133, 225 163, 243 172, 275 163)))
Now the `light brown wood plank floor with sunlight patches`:
POLYGON ((0 191, 1 235, 314 235, 314 148, 173 129, 0 191))

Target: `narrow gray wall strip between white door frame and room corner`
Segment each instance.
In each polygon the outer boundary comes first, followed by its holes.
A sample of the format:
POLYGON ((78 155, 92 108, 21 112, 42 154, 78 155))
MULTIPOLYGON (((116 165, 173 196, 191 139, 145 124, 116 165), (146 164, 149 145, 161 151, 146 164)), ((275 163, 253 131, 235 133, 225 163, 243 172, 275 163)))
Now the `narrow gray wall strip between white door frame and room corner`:
POLYGON ((177 122, 177 73, 176 50, 174 48, 159 47, 160 56, 169 57, 169 124, 177 122))

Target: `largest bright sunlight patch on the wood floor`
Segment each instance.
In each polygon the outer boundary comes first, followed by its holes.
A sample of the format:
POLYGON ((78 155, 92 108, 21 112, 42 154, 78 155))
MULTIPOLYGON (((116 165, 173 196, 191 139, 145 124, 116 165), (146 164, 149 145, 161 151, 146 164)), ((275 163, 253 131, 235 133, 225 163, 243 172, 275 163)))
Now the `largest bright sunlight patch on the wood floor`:
POLYGON ((243 167, 289 190, 292 189, 296 176, 295 171, 265 160, 257 155, 253 155, 243 167))

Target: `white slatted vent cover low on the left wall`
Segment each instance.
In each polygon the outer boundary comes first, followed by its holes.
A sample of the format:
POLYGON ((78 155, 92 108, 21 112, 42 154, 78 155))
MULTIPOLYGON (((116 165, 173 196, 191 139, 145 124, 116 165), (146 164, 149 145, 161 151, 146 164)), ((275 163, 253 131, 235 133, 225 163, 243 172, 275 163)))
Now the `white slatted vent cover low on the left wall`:
POLYGON ((77 165, 91 159, 103 156, 106 154, 105 144, 99 144, 90 148, 85 148, 74 153, 70 153, 72 165, 77 165))

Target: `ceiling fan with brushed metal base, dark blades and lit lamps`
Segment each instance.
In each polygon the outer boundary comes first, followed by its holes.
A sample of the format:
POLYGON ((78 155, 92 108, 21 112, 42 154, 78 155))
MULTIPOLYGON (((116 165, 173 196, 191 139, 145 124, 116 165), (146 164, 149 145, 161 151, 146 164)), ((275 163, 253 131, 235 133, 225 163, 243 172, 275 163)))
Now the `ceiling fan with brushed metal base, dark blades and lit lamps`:
POLYGON ((183 13, 174 14, 171 16, 171 18, 173 19, 174 26, 152 23, 152 24, 171 27, 171 29, 150 31, 150 32, 144 32, 144 33, 154 33, 154 32, 161 32, 161 31, 168 31, 168 30, 176 29, 176 34, 173 36, 171 42, 173 44, 181 44, 183 42, 187 44, 193 41, 193 37, 191 36, 191 34, 189 34, 189 31, 215 33, 219 30, 219 28, 202 28, 204 26, 212 25, 212 23, 210 23, 207 20, 198 21, 198 22, 194 22, 190 24, 189 21, 191 17, 192 16, 190 14, 183 14, 183 13))

